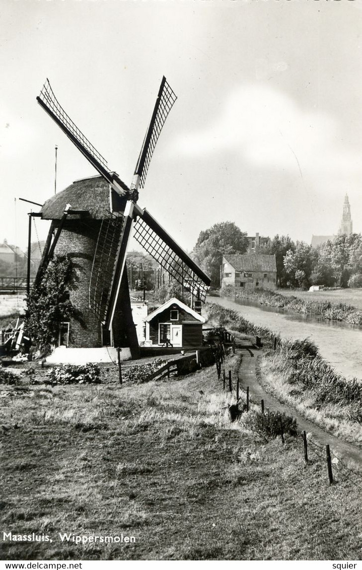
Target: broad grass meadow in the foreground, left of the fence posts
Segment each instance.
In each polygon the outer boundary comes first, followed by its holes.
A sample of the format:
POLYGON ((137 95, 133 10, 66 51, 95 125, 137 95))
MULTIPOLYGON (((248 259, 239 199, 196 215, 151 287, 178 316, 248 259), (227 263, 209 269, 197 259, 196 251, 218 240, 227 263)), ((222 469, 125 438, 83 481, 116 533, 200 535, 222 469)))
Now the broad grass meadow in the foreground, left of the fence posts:
POLYGON ((1 389, 1 530, 52 539, 2 542, 2 559, 360 558, 359 488, 330 487, 324 458, 304 465, 299 439, 266 442, 246 414, 231 424, 214 369, 122 389, 1 389))

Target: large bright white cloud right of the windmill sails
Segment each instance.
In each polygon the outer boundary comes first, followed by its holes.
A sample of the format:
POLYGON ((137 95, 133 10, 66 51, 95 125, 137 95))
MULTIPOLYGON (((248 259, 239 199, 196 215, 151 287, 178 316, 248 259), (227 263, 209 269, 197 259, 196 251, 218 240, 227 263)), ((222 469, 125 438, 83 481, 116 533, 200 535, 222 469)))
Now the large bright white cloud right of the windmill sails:
POLYGON ((249 85, 229 93, 208 128, 182 133, 171 148, 199 157, 226 150, 265 168, 360 171, 360 154, 341 144, 339 126, 327 113, 306 111, 276 89, 249 85))

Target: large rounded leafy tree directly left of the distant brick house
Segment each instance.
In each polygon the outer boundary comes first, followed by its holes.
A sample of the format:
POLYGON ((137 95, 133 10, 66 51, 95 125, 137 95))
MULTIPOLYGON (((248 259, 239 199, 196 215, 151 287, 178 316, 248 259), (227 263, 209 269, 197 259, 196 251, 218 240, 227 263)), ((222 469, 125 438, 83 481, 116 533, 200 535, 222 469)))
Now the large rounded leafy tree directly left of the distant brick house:
POLYGON ((222 256, 243 254, 247 244, 246 232, 234 222, 219 222, 200 232, 192 255, 209 275, 211 286, 219 287, 222 256))

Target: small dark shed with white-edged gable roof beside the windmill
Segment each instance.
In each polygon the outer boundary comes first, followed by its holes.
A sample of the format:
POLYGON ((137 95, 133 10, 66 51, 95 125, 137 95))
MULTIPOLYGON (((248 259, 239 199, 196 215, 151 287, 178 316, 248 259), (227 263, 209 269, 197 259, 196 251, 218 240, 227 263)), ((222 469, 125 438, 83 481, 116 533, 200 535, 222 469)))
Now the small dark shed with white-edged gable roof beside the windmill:
POLYGON ((204 317, 176 297, 158 307, 146 319, 146 342, 172 348, 198 348, 202 345, 204 317))

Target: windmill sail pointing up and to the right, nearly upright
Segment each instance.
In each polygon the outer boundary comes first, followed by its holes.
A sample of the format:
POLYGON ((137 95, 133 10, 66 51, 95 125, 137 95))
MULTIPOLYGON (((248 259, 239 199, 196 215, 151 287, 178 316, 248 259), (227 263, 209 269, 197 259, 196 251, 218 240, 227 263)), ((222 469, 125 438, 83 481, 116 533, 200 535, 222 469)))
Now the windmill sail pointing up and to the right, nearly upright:
POLYGON ((143 141, 139 160, 137 161, 135 175, 132 182, 132 186, 134 188, 144 188, 154 147, 156 146, 168 113, 172 109, 172 105, 176 99, 177 97, 175 93, 166 82, 166 78, 164 76, 161 81, 160 89, 158 90, 156 104, 154 105, 151 122, 149 123, 149 127, 143 141))

